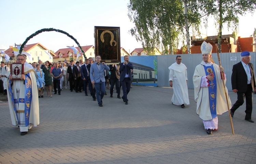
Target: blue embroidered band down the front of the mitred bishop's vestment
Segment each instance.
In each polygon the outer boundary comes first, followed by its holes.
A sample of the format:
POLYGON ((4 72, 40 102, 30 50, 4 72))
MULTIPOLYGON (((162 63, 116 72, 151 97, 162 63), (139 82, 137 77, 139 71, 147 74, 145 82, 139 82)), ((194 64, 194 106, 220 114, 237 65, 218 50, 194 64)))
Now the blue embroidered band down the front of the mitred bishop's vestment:
POLYGON ((210 101, 210 110, 211 110, 211 115, 212 118, 214 119, 217 117, 217 112, 216 112, 216 93, 217 93, 217 86, 216 86, 216 76, 214 72, 213 65, 211 66, 204 66, 205 74, 213 76, 214 79, 213 81, 209 81, 210 86, 208 87, 209 90, 209 101, 210 101))

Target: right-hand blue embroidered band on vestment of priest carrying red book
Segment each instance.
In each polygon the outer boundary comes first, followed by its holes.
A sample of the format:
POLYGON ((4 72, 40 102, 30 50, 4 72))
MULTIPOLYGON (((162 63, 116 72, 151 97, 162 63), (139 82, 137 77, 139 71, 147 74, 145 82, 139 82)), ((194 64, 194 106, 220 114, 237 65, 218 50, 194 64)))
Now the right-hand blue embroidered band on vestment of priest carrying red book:
POLYGON ((29 114, 32 100, 32 81, 30 78, 30 73, 25 75, 25 125, 29 125, 29 114))

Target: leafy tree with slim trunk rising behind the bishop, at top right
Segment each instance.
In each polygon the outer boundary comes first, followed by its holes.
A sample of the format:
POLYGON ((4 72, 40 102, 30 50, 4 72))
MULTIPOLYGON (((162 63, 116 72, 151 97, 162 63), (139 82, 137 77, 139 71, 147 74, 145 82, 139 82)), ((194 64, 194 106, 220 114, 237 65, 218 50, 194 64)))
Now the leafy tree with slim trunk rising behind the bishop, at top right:
POLYGON ((202 1, 206 13, 211 14, 218 22, 218 49, 221 52, 221 38, 223 24, 227 23, 228 28, 237 31, 239 15, 247 12, 254 13, 256 0, 205 0, 202 1))

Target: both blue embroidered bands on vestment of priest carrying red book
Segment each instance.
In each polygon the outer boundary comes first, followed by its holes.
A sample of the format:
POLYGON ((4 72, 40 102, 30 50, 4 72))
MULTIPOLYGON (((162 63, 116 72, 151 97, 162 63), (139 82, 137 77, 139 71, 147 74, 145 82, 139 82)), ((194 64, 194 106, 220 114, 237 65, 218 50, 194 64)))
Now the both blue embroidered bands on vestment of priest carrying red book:
MULTIPOLYGON (((12 92, 12 87, 11 87, 11 80, 9 80, 9 82, 8 82, 8 90, 9 90, 9 93, 10 93, 10 96, 11 96, 13 111, 15 113, 17 122, 19 123, 18 116, 17 116, 17 111, 16 111, 16 107, 15 107, 15 104, 17 104, 18 101, 17 101, 17 99, 14 99, 14 97, 13 97, 13 92, 12 92)), ((20 98, 20 99, 22 99, 22 98, 20 98)), ((25 108, 24 108, 25 125, 26 126, 29 125, 29 114, 30 114, 31 100, 32 100, 32 84, 31 84, 30 74, 27 73, 27 74, 25 74, 25 108)), ((22 103, 23 103, 23 99, 22 99, 22 103)))

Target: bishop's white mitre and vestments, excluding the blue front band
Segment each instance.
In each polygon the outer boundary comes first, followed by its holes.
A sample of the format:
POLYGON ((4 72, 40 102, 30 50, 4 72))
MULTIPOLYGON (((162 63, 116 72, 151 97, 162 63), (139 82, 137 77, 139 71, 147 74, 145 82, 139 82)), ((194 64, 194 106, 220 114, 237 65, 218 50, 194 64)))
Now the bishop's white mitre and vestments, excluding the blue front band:
MULTIPOLYGON (((211 47, 205 41, 201 46, 202 54, 211 54, 211 47), (204 47, 203 47, 204 44, 204 47), (208 44, 208 45, 206 45, 208 44), (206 46, 205 46, 206 45, 206 46)), ((226 78, 224 80, 226 83, 226 78)), ((195 69, 195 73, 193 76, 194 83, 194 92, 195 92, 195 102, 197 103, 197 114, 203 120, 205 129, 218 129, 218 117, 212 117, 211 109, 216 111, 217 115, 221 115, 228 111, 225 89, 227 91, 227 87, 223 86, 223 81, 221 79, 221 73, 219 70, 219 66, 213 62, 205 63, 202 61, 199 65, 197 65, 195 69), (213 65, 214 69, 214 78, 216 79, 216 84, 210 84, 207 79, 207 74, 205 73, 205 68, 213 65), (209 95, 209 87, 216 87, 216 93, 211 93, 209 95), (216 98, 216 104, 210 107, 210 98, 216 98)), ((229 108, 231 108, 231 101, 228 97, 229 108)))

